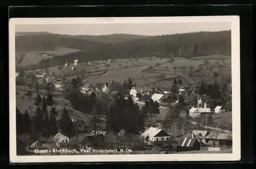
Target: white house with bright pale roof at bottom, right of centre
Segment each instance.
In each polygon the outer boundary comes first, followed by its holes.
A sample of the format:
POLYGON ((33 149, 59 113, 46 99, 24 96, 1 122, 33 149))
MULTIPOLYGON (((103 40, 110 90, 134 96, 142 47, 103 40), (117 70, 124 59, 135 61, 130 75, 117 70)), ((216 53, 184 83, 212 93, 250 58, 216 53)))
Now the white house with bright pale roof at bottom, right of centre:
POLYGON ((148 140, 150 142, 163 142, 170 139, 170 135, 168 135, 162 129, 150 127, 144 133, 141 134, 141 138, 143 138, 144 140, 148 140))

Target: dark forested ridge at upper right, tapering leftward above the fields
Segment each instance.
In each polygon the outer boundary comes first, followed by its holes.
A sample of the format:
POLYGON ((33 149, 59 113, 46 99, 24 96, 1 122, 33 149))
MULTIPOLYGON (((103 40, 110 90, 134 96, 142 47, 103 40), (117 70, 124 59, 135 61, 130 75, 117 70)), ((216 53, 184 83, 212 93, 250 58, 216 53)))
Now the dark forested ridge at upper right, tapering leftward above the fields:
POLYGON ((206 55, 231 55, 231 31, 197 32, 176 35, 151 36, 122 43, 104 44, 96 49, 79 51, 51 60, 41 65, 55 66, 66 61, 93 61, 105 58, 139 57, 195 57, 206 55))

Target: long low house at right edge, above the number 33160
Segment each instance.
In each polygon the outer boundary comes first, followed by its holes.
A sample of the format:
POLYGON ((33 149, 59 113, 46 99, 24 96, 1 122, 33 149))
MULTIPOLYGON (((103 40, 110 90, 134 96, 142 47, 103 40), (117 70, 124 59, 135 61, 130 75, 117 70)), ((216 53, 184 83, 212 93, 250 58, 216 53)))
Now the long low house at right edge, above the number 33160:
POLYGON ((206 137, 204 137, 205 141, 208 144, 215 144, 215 145, 232 145, 232 134, 228 133, 210 133, 206 137))

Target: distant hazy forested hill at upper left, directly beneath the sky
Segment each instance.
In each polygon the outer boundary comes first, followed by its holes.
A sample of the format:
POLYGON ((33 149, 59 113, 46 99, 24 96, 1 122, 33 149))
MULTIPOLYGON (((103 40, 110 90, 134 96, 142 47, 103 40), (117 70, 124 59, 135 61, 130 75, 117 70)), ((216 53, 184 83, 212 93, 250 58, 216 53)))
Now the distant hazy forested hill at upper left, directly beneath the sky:
POLYGON ((144 38, 147 36, 112 34, 112 35, 60 35, 48 32, 17 32, 15 48, 17 53, 52 51, 56 47, 68 47, 87 51, 96 49, 105 43, 119 43, 144 38))

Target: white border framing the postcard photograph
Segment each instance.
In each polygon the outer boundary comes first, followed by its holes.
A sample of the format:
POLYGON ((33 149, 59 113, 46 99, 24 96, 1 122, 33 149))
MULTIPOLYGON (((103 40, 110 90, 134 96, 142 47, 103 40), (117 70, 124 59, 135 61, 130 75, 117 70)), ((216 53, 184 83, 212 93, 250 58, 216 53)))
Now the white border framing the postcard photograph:
POLYGON ((239 16, 184 17, 101 17, 101 18, 11 18, 9 19, 9 117, 10 162, 125 162, 125 161, 235 161, 241 159, 240 137, 240 20, 239 16), (108 24, 156 22, 230 22, 232 55, 232 153, 230 154, 143 154, 143 155, 16 155, 15 25, 33 24, 108 24))

